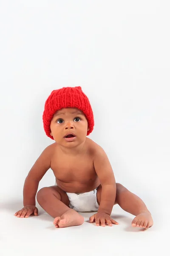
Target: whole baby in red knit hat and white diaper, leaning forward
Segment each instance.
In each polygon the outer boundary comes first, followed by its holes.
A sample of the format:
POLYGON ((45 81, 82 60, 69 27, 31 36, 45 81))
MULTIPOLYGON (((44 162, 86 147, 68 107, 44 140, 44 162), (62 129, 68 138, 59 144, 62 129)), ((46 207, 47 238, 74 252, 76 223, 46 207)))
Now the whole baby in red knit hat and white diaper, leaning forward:
POLYGON ((96 213, 89 219, 96 226, 118 224, 111 218, 113 205, 135 215, 133 227, 149 228, 152 216, 144 202, 124 186, 115 182, 105 151, 86 136, 93 131, 94 116, 81 87, 63 87, 52 91, 43 113, 45 133, 55 141, 42 152, 26 177, 23 188, 23 209, 18 218, 38 215, 35 197, 40 206, 54 218, 55 227, 81 225, 78 212, 96 213), (37 193, 42 177, 52 169, 55 186, 37 193))

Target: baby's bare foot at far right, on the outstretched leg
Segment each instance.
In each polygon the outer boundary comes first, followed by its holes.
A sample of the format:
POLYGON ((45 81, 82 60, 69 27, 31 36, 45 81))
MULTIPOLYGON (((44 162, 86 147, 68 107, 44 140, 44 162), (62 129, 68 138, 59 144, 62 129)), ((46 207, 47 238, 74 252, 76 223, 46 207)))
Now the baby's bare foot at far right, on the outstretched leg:
POLYGON ((132 227, 149 228, 153 226, 153 219, 150 212, 142 212, 132 221, 132 227))

